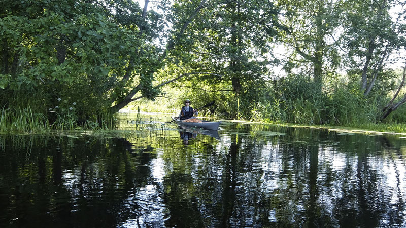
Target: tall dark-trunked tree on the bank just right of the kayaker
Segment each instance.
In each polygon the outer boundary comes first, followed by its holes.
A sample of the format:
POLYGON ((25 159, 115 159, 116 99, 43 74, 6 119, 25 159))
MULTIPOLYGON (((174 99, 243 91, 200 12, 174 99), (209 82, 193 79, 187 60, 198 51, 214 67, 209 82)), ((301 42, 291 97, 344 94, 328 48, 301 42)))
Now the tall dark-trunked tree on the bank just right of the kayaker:
POLYGON ((171 55, 172 71, 216 72, 223 76, 205 74, 195 78, 196 84, 212 88, 221 84, 235 97, 256 94, 272 64, 268 55, 277 35, 278 12, 270 1, 208 3, 171 55))

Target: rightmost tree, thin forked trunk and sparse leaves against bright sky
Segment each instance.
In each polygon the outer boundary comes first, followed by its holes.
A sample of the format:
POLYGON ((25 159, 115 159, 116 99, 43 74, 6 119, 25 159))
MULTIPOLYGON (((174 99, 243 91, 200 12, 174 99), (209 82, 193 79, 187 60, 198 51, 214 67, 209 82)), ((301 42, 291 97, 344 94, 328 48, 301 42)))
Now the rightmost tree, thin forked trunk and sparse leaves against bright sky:
POLYGON ((344 5, 347 10, 343 23, 348 27, 343 33, 344 49, 351 67, 360 69, 360 89, 368 96, 391 54, 399 52, 405 45, 404 2, 350 0, 344 5), (391 9, 402 5, 393 19, 391 9))

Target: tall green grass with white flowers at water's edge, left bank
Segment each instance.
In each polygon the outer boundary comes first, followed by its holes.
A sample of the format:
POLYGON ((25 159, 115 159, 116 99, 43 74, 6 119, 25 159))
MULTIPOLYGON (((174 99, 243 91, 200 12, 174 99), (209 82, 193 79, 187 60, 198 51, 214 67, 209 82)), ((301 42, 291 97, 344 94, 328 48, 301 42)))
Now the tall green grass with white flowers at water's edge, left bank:
POLYGON ((97 113, 90 120, 78 120, 75 109, 49 110, 46 99, 33 92, 2 92, 0 98, 0 132, 48 133, 50 131, 74 131, 80 129, 113 129, 115 115, 97 113), (27 96, 28 94, 28 96, 27 96), (59 112, 58 112, 59 111, 59 112))

